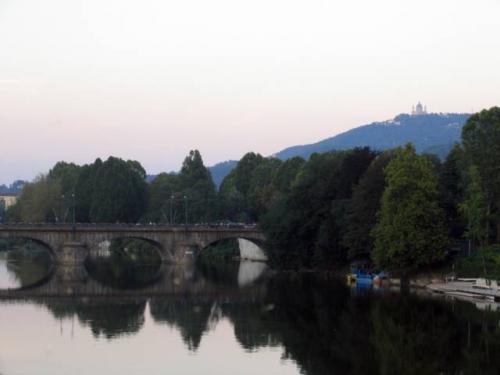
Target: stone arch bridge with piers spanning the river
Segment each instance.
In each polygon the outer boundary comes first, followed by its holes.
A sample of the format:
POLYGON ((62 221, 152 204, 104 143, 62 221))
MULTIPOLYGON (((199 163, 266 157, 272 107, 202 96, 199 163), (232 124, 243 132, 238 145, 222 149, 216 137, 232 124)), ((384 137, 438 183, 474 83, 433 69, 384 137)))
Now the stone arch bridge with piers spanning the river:
POLYGON ((147 241, 155 245, 163 262, 173 264, 188 261, 191 254, 220 240, 265 241, 261 231, 246 225, 7 224, 0 225, 0 238, 33 240, 49 249, 56 264, 77 266, 99 244, 118 238, 147 241))

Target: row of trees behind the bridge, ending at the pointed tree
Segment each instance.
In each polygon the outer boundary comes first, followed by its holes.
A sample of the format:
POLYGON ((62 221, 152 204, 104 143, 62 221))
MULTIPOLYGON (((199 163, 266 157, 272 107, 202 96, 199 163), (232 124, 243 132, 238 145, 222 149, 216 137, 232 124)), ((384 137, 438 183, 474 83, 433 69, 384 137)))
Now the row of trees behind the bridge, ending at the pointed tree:
POLYGON ((161 173, 151 183, 138 161, 110 157, 83 166, 58 162, 24 186, 7 220, 196 223, 213 218, 215 200, 210 172, 196 150, 185 158, 179 173, 161 173))

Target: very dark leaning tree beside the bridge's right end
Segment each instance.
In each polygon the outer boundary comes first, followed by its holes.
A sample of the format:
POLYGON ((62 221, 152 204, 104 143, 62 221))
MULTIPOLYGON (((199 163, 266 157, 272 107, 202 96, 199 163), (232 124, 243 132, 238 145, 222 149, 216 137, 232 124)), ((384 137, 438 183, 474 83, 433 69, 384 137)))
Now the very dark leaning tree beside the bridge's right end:
POLYGON ((311 156, 298 170, 290 191, 263 216, 272 262, 287 268, 328 268, 345 261, 340 241, 345 212, 353 186, 375 155, 362 148, 311 156))

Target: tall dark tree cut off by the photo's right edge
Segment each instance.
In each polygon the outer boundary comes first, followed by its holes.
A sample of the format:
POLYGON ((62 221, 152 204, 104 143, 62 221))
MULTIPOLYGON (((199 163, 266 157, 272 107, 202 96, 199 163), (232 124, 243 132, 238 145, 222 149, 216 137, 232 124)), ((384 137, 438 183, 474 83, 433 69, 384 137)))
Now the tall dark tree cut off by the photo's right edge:
POLYGON ((487 216, 496 224, 496 240, 500 241, 500 107, 472 115, 462 129, 462 143, 466 156, 477 166, 487 216))

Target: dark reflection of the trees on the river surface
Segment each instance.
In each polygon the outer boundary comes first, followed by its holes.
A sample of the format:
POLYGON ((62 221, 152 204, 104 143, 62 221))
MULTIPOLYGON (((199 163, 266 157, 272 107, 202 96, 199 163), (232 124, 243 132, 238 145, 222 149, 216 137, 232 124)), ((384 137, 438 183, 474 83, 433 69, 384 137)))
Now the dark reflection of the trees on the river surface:
POLYGON ((224 268, 222 276, 214 267, 198 270, 193 293, 43 303, 107 339, 139 332, 150 311, 151 324, 174 327, 193 352, 227 319, 242 348, 282 348, 310 375, 497 374, 500 368, 497 312, 390 291, 359 293, 313 274, 278 273, 238 288, 231 272, 237 268, 224 268))

